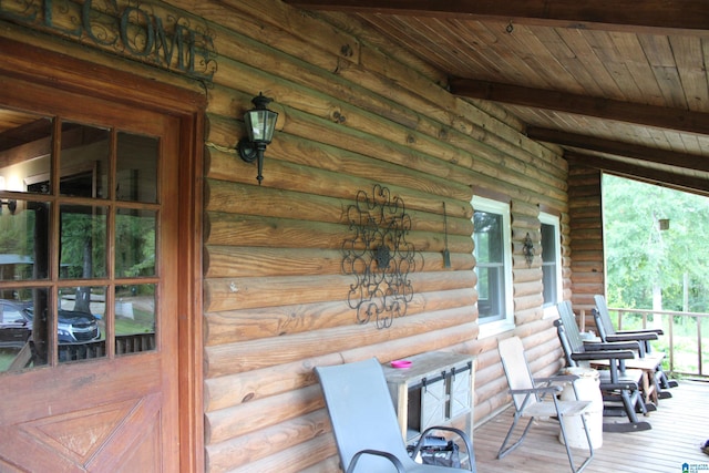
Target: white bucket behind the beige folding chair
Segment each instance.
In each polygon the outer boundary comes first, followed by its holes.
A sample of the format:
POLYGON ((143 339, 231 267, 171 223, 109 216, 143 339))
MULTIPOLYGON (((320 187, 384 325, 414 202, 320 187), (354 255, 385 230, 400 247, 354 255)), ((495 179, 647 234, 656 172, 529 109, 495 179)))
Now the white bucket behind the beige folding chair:
MULTIPOLYGON (((590 435, 590 444, 594 449, 600 449, 603 445, 603 395, 600 394, 600 376, 597 370, 592 368, 565 368, 562 374, 575 374, 578 377, 574 384, 578 392, 579 401, 592 401, 590 407, 586 411, 586 425, 590 435)), ((562 391, 562 401, 573 401, 576 397, 574 388, 571 383, 564 387, 562 391)), ((566 431, 566 440, 569 446, 575 449, 588 450, 588 441, 584 424, 580 417, 574 415, 564 418, 564 430, 566 431)), ((558 441, 564 443, 561 432, 558 441)))

